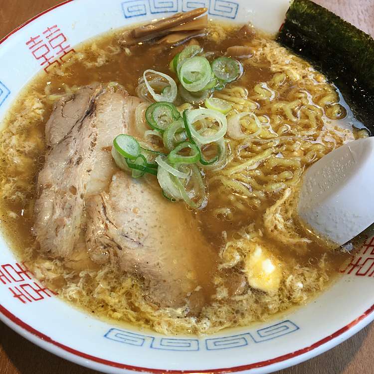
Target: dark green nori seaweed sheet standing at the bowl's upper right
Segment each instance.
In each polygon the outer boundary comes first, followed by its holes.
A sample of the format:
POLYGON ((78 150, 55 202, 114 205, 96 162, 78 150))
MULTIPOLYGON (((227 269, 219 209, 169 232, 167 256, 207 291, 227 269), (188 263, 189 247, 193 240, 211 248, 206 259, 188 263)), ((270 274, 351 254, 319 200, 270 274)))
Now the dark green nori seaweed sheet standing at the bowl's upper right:
POLYGON ((277 41, 309 60, 374 134, 374 40, 310 0, 294 0, 277 41))

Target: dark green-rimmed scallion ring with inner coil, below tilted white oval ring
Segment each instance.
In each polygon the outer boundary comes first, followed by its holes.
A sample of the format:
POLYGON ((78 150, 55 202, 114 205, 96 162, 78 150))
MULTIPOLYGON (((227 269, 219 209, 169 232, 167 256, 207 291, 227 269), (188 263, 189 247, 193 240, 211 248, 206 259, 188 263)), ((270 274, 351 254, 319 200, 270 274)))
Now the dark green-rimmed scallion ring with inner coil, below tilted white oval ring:
POLYGON ((178 109, 167 101, 154 103, 147 108, 146 120, 156 130, 164 131, 171 123, 181 117, 178 109))

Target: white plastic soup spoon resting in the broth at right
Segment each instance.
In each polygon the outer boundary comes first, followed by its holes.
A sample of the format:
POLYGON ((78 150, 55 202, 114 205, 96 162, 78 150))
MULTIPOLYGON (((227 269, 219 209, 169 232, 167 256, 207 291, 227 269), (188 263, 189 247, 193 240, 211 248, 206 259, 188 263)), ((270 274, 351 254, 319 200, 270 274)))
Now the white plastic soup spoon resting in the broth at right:
POLYGON ((316 233, 343 245, 374 222, 374 138, 330 152, 305 173, 299 217, 316 233))

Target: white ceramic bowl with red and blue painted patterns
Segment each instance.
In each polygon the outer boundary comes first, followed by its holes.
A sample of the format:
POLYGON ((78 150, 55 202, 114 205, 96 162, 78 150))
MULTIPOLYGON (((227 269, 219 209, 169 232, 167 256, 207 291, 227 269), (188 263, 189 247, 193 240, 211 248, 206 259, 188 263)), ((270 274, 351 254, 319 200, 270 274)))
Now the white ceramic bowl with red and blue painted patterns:
MULTIPOLYGON (((63 54, 74 53, 78 43, 197 6, 206 6, 212 18, 251 21, 275 32, 288 0, 67 0, 0 41, 0 121, 24 84, 63 54)), ((272 322, 207 337, 168 337, 118 327, 62 302, 0 238, 0 319, 40 347, 106 373, 271 373, 319 355, 373 320, 374 239, 342 272, 314 302, 272 322)))

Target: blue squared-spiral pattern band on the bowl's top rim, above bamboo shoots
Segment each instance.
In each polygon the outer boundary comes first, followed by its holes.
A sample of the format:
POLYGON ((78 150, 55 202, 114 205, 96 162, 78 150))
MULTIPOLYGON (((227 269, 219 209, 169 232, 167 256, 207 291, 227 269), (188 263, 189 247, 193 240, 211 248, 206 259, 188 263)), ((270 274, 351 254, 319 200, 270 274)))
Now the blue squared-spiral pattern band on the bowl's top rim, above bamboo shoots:
POLYGON ((121 5, 125 18, 206 7, 211 15, 235 19, 239 9, 236 1, 227 0, 125 0, 121 5))

